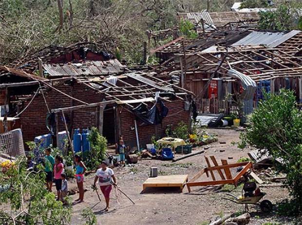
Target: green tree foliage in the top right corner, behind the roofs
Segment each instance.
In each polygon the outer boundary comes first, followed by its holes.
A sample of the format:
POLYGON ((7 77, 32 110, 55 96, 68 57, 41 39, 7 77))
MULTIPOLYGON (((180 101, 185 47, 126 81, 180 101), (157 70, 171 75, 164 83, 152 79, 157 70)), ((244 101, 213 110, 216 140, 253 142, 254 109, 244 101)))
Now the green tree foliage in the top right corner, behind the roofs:
POLYGON ((258 27, 263 30, 293 30, 301 28, 297 5, 281 4, 276 11, 260 12, 258 27))

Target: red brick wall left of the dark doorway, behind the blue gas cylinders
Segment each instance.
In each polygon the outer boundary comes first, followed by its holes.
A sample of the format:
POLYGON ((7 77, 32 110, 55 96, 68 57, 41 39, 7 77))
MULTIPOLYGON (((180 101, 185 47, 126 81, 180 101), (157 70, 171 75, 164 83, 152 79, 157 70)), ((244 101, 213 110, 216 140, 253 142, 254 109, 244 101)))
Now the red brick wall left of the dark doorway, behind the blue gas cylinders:
MULTIPOLYGON (((57 89, 71 95, 71 87, 68 85, 61 85, 57 87, 57 89)), ((73 92, 75 98, 87 103, 100 102, 102 100, 102 96, 100 94, 95 94, 93 90, 87 88, 83 84, 74 83, 73 92)), ((44 95, 50 110, 71 106, 71 99, 55 90, 50 90, 44 95)), ((29 101, 24 104, 24 107, 28 103, 29 101)), ((74 100, 74 105, 82 105, 82 103, 74 100)), ((46 128, 46 114, 47 107, 43 96, 41 94, 37 95, 30 106, 20 115, 24 142, 33 141, 36 136, 49 133, 46 128)), ((66 112, 64 114, 67 124, 69 125, 70 112, 66 112)), ((94 107, 74 111, 73 129, 91 128, 96 126, 95 115, 96 109, 94 107)), ((58 119, 59 131, 65 131, 61 113, 58 113, 58 119)))

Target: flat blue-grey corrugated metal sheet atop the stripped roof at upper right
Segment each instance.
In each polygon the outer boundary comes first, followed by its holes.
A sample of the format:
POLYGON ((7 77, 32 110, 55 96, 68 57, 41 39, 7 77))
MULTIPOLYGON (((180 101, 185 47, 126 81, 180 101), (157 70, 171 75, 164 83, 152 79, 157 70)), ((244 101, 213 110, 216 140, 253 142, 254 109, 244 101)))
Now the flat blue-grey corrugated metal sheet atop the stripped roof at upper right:
POLYGON ((290 32, 261 32, 253 31, 245 38, 232 44, 233 47, 240 45, 266 45, 270 48, 275 48, 289 38, 294 37, 301 31, 293 30, 290 32))

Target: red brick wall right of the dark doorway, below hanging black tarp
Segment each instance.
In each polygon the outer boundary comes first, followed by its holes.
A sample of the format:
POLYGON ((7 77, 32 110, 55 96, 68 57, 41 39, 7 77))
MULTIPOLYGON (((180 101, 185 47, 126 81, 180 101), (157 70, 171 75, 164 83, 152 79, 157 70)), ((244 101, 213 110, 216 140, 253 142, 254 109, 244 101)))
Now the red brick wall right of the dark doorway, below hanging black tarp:
MULTIPOLYGON (((157 138, 164 137, 166 128, 170 124, 172 128, 176 127, 180 121, 189 124, 189 111, 184 110, 184 101, 174 100, 173 102, 165 102, 165 105, 168 107, 169 113, 163 119, 162 124, 156 126, 142 125, 142 122, 137 121, 140 145, 150 143, 151 136, 154 134, 156 134, 157 138)), ((134 119, 135 116, 129 111, 122 110, 120 113, 121 133, 126 145, 130 145, 131 147, 136 146, 135 130, 133 129, 134 119)))

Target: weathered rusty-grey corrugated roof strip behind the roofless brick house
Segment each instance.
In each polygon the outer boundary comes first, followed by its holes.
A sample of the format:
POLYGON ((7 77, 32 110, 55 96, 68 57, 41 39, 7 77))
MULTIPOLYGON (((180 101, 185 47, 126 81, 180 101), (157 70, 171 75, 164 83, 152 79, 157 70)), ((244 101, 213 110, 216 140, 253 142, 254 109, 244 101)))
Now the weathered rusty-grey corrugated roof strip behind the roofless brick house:
POLYGON ((122 72, 122 65, 117 59, 107 61, 86 60, 76 63, 45 63, 43 69, 50 76, 109 75, 122 72))

